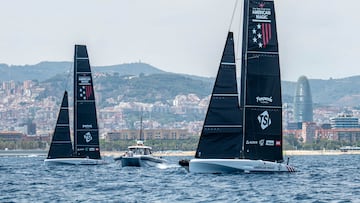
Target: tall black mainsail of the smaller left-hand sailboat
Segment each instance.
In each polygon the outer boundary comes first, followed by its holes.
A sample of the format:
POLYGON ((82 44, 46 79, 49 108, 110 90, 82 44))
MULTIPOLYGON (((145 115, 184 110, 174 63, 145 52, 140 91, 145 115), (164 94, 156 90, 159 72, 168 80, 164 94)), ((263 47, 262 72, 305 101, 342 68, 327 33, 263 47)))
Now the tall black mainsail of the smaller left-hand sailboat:
POLYGON ((74 55, 74 154, 101 159, 93 79, 84 45, 75 45, 74 55))

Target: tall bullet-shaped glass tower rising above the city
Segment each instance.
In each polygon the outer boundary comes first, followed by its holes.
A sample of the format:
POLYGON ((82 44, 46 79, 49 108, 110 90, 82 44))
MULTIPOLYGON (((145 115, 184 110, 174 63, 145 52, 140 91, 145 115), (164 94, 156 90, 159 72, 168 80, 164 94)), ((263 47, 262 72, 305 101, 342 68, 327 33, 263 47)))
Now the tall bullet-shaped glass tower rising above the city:
POLYGON ((309 81, 301 76, 297 81, 294 97, 295 122, 313 122, 313 107, 309 81))

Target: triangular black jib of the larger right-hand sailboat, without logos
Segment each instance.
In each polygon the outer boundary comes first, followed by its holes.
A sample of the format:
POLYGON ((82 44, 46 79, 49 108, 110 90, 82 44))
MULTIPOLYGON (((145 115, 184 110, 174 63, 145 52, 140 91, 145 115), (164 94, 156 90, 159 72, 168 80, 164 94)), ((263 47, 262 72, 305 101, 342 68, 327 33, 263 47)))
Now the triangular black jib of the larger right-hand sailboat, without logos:
POLYGON ((196 158, 240 158, 239 108, 233 33, 229 32, 196 150, 196 158))

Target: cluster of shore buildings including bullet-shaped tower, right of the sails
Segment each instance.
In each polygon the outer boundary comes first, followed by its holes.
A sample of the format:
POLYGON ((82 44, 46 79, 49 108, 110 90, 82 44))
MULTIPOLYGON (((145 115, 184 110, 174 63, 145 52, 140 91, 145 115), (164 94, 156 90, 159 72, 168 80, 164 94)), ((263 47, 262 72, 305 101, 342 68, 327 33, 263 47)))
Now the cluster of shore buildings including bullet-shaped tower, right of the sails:
POLYGON ((293 122, 286 123, 285 136, 293 135, 302 143, 311 143, 318 139, 347 143, 360 141, 359 118, 351 114, 331 117, 328 123, 317 124, 313 121, 311 89, 305 76, 298 79, 293 105, 293 122))

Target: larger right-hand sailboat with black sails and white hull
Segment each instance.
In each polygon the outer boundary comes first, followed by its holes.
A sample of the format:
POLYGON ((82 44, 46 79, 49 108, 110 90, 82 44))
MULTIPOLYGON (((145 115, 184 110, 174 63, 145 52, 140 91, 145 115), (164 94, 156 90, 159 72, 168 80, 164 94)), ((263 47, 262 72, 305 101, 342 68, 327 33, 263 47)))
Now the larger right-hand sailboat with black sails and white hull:
POLYGON ((240 95, 229 32, 189 171, 295 171, 282 163, 280 82, 274 2, 245 0, 240 95))

